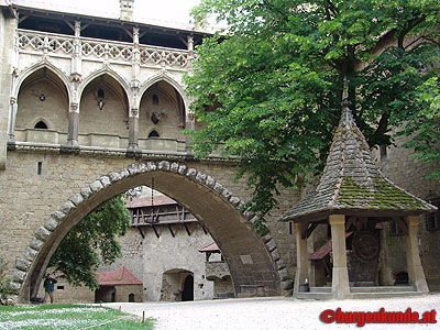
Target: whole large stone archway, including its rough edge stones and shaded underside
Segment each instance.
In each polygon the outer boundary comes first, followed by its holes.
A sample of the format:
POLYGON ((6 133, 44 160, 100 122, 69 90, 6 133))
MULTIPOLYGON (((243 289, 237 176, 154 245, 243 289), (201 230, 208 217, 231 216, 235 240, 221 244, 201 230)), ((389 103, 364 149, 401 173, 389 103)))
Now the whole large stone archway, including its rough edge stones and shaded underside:
POLYGON ((130 188, 148 185, 152 178, 156 189, 190 210, 208 229, 228 262, 235 293, 264 287, 267 296, 280 294, 283 284, 288 282, 287 271, 278 262, 272 237, 257 238, 253 233, 251 224, 256 216, 240 212, 240 198, 211 176, 184 163, 157 161, 135 163, 102 176, 53 212, 16 260, 12 288, 19 299, 28 301, 31 290, 38 287, 52 254, 73 226, 101 202, 130 188))

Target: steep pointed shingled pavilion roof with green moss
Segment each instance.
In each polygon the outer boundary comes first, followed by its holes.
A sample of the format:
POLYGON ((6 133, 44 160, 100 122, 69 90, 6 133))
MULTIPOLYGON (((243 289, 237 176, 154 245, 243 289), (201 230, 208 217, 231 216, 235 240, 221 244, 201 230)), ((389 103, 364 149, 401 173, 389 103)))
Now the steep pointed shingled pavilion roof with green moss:
POLYGON ((378 170, 349 102, 343 101, 343 113, 318 187, 280 221, 364 210, 399 211, 404 216, 431 212, 436 207, 397 187, 378 170))

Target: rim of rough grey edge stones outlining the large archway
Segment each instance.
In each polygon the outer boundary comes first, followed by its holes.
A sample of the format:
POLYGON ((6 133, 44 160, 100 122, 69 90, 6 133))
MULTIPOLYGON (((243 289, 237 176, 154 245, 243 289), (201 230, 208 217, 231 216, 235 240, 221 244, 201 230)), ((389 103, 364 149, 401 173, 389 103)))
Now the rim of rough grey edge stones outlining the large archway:
MULTIPOLYGON (((69 215, 79 208, 84 202, 99 194, 107 187, 123 180, 124 178, 135 177, 145 172, 169 172, 185 176, 205 187, 217 193, 224 201, 229 202, 238 212, 241 213, 243 222, 252 226, 257 220, 257 216, 251 212, 243 212, 243 202, 241 199, 231 194, 213 177, 199 172, 196 168, 188 167, 184 163, 169 162, 169 161, 151 161, 142 163, 133 163, 127 168, 122 168, 119 172, 109 173, 99 179, 92 182, 88 186, 81 188, 78 194, 75 194, 67 199, 58 210, 54 211, 44 226, 41 226, 32 238, 31 243, 25 248, 25 251, 21 257, 15 262, 15 268, 12 273, 11 288, 13 294, 23 297, 23 286, 29 284, 30 275, 32 273, 32 266, 38 258, 38 254, 46 244, 52 233, 69 217, 69 215)), ((280 289, 288 290, 292 287, 292 280, 288 278, 287 268, 284 261, 280 258, 275 240, 270 233, 261 238, 264 249, 270 255, 274 264, 274 270, 277 272, 277 276, 280 282, 280 289)), ((26 298, 24 298, 26 300, 26 298)))

